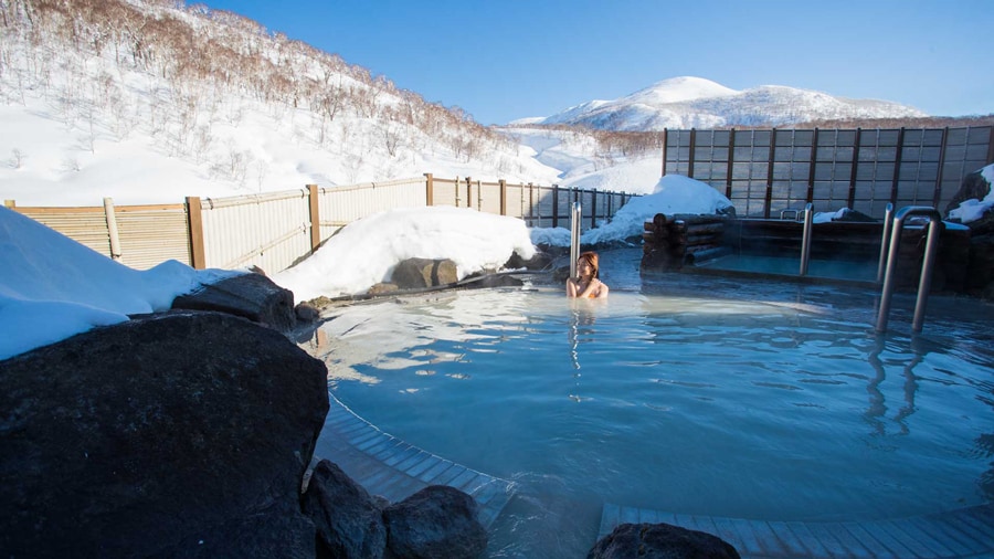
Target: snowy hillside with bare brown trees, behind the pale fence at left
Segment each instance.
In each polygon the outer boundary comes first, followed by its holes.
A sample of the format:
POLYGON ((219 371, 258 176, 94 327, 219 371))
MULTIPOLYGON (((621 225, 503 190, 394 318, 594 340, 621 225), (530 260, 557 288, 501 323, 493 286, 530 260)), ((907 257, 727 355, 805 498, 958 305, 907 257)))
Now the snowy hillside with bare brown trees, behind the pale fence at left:
POLYGON ((19 205, 560 176, 458 108, 234 13, 162 0, 3 13, 0 198, 19 205))

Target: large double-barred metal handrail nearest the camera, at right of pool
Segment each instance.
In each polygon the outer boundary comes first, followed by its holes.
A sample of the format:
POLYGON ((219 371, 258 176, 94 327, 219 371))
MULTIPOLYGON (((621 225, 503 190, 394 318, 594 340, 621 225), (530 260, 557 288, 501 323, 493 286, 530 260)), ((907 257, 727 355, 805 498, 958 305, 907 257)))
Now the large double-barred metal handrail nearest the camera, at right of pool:
MULTIPOLYGON (((880 294, 880 312, 877 315, 878 334, 887 331, 890 298, 893 295, 893 271, 897 268, 898 250, 901 245, 901 230, 905 226, 905 218, 909 215, 929 217, 929 239, 926 242, 924 260, 921 263, 921 280, 918 283, 918 299, 914 303, 914 319, 911 323, 911 331, 920 333, 924 321, 926 303, 929 298, 929 289, 932 286, 932 266, 934 265, 935 253, 939 250, 939 229, 942 224, 942 215, 934 208, 909 205, 898 210, 893 218, 893 228, 890 233, 890 253, 887 256, 884 291, 880 294)), ((886 226, 885 224, 885 229, 886 226)))

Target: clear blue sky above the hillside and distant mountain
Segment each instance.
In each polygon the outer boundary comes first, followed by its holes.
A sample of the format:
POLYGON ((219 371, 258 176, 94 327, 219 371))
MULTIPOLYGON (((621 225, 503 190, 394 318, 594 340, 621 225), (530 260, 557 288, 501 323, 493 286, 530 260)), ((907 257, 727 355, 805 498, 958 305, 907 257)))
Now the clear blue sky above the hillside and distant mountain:
MULTIPOLYGON (((188 4, 194 2, 188 0, 188 4)), ((207 0, 485 125, 676 76, 994 113, 990 0, 207 0)))

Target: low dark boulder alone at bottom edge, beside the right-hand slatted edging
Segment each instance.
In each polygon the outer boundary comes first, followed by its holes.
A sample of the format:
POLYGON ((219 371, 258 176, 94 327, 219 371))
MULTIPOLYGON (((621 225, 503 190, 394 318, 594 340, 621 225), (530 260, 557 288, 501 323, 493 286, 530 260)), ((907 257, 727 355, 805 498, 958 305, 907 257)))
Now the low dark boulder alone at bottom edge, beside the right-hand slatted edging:
POLYGON ((731 544, 668 524, 622 524, 598 541, 586 559, 738 559, 731 544))

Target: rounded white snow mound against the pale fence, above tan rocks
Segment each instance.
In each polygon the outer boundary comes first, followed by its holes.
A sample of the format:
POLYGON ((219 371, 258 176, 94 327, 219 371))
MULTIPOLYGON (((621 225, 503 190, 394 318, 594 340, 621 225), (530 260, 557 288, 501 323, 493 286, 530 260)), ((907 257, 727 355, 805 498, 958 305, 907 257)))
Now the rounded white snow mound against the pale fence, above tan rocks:
MULTIPOLYGON (((567 243, 569 244, 569 243, 567 243)), ((459 280, 535 255, 517 218, 453 207, 401 208, 349 223, 310 257, 273 276, 297 300, 364 293, 408 259, 448 259, 459 280)))

